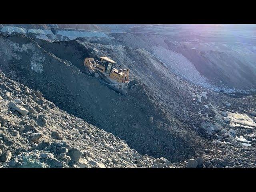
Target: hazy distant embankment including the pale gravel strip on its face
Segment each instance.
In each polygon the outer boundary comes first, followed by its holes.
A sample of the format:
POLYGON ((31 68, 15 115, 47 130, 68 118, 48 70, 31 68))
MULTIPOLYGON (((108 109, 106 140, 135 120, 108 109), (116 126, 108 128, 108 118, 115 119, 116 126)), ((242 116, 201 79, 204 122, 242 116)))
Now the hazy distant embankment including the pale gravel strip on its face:
POLYGON ((210 36, 208 31, 191 35, 186 29, 158 27, 160 34, 154 33, 156 26, 152 26, 149 32, 108 34, 114 40, 87 38, 86 41, 144 48, 172 72, 205 88, 236 88, 238 92, 239 89, 255 89, 254 36, 210 36), (170 34, 164 28, 171 30, 170 34))

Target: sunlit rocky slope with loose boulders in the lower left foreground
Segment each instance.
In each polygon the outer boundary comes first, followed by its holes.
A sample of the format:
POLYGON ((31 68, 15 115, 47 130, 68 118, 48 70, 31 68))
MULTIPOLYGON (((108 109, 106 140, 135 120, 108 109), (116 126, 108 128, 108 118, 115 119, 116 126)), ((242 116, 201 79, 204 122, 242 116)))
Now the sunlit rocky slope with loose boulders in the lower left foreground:
POLYGON ((0 167, 124 168, 171 166, 68 114, 0 72, 0 167))

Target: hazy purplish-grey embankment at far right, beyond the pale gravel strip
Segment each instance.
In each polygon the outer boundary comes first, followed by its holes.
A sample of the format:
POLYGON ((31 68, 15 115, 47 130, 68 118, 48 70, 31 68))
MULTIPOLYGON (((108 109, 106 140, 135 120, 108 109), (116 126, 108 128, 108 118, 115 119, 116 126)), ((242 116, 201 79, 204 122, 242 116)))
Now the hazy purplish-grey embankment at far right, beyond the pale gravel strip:
POLYGON ((255 88, 256 52, 253 46, 235 43, 182 42, 166 40, 169 50, 178 52, 194 64, 212 84, 236 89, 255 88))

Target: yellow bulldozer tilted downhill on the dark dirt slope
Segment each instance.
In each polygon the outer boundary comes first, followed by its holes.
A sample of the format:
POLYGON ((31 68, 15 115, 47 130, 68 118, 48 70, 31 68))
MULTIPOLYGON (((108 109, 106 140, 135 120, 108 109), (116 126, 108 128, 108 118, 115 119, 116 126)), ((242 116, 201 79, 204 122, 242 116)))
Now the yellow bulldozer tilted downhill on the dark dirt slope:
POLYGON ((130 69, 121 69, 121 66, 117 69, 116 62, 108 57, 100 57, 100 61, 87 57, 84 60, 84 66, 88 74, 123 95, 126 95, 128 90, 137 84, 136 80, 129 79, 130 69))

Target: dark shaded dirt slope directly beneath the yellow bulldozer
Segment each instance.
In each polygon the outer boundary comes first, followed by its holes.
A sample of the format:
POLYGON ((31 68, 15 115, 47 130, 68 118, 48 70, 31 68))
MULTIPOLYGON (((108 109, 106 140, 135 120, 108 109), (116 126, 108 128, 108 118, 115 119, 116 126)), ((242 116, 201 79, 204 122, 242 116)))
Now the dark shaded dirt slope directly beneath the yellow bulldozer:
POLYGON ((165 156, 177 162, 202 146, 192 130, 166 115, 145 84, 122 96, 82 73, 85 57, 108 54, 107 50, 86 49, 86 45, 75 41, 55 42, 62 46, 52 47, 49 42, 44 44, 48 48, 24 35, 0 34, 0 69, 18 82, 40 90, 62 110, 125 140, 141 154, 165 156), (64 46, 66 43, 74 43, 76 50, 64 46))

